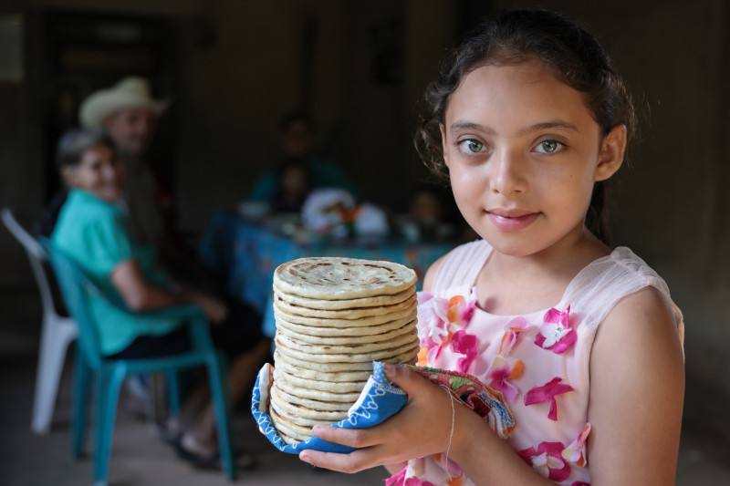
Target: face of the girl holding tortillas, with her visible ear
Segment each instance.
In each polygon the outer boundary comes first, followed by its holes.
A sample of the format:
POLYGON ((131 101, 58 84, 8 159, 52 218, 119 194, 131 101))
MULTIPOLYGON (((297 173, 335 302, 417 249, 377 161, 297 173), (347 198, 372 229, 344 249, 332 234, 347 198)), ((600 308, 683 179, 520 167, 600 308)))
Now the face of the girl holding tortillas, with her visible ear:
POLYGON ((537 60, 479 67, 452 94, 443 158, 459 210, 516 256, 577 243, 595 181, 620 167, 626 129, 601 137, 579 91, 537 60))

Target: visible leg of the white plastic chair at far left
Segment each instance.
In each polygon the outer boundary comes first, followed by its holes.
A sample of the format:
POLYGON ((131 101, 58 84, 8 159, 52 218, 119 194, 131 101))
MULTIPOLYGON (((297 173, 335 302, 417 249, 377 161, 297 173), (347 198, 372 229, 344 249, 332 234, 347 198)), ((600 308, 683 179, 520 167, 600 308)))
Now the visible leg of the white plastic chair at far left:
POLYGON ((47 314, 43 317, 33 421, 30 425, 36 434, 47 434, 50 431, 66 350, 76 337, 76 326, 67 321, 59 320, 55 315, 47 314))

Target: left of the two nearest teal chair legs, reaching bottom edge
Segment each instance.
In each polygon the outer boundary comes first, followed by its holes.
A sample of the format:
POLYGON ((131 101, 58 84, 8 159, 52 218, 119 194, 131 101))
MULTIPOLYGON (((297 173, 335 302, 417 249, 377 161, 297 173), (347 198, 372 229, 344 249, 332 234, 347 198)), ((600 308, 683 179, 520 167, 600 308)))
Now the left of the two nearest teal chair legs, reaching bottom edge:
POLYGON ((96 417, 96 445, 94 450, 94 484, 109 483, 111 444, 121 385, 126 377, 123 366, 105 367, 99 370, 97 379, 98 411, 96 417))

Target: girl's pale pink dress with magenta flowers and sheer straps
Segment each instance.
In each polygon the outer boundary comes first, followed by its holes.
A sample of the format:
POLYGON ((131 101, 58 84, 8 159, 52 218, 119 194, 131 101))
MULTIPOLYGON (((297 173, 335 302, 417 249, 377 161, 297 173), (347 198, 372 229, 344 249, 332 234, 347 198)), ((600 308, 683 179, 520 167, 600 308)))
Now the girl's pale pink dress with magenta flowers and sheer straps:
MULTIPOLYGON (((519 457, 558 484, 589 484, 586 440, 589 359, 593 337, 622 297, 656 287, 673 307, 683 341, 683 319, 661 277, 628 248, 587 265, 560 302, 526 315, 492 315, 475 306, 476 277, 492 247, 484 240, 448 253, 420 293, 419 365, 453 369, 499 390, 516 427, 506 439, 519 457)), ((410 460, 388 486, 474 484, 445 454, 410 460)))

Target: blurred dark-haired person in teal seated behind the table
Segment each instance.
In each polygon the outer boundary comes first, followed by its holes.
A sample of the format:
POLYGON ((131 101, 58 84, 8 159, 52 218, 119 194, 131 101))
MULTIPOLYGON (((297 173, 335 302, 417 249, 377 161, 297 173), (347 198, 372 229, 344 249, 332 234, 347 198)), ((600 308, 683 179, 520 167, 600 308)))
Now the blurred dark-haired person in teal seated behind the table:
MULTIPOLYGON (((307 113, 289 113, 282 119, 279 129, 284 166, 287 165, 286 160, 301 160, 307 171, 309 190, 336 187, 349 191, 356 200, 360 200, 357 185, 337 164, 313 154, 315 128, 307 113)), ((282 174, 281 167, 262 173, 254 182, 248 200, 270 204, 276 202, 282 192, 282 174)))

